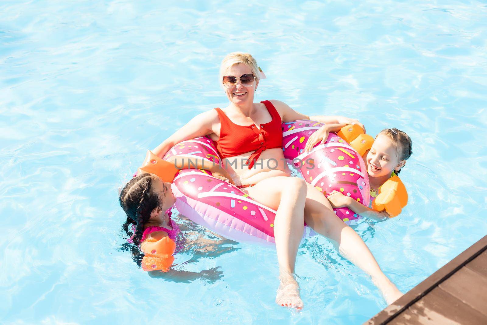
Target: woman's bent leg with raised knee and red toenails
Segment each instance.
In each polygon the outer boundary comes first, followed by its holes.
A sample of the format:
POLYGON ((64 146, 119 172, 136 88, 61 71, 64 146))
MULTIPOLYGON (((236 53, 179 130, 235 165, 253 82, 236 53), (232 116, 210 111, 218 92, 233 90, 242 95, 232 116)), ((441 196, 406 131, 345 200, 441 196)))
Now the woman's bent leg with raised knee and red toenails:
POLYGON ((299 285, 294 279, 296 255, 304 232, 303 211, 306 202, 306 183, 297 177, 266 178, 247 189, 257 202, 277 210, 274 220, 281 284, 276 303, 302 308, 299 285))

